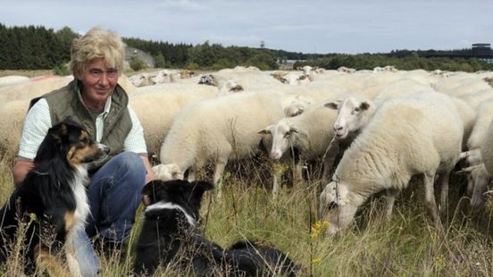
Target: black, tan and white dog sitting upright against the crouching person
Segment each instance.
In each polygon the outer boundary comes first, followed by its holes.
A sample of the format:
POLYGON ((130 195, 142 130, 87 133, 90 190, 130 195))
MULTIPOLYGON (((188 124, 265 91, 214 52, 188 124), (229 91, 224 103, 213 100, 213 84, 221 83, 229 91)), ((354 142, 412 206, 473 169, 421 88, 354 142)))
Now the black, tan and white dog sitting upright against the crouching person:
POLYGON ((84 228, 89 213, 85 184, 87 164, 103 159, 109 148, 94 142, 71 118, 50 128, 38 148, 32 168, 0 211, 0 263, 12 255, 23 226, 25 271, 52 276, 80 275, 71 232, 84 228), (64 254, 63 255, 63 250, 64 254), (66 258, 66 260, 65 260, 66 258))

